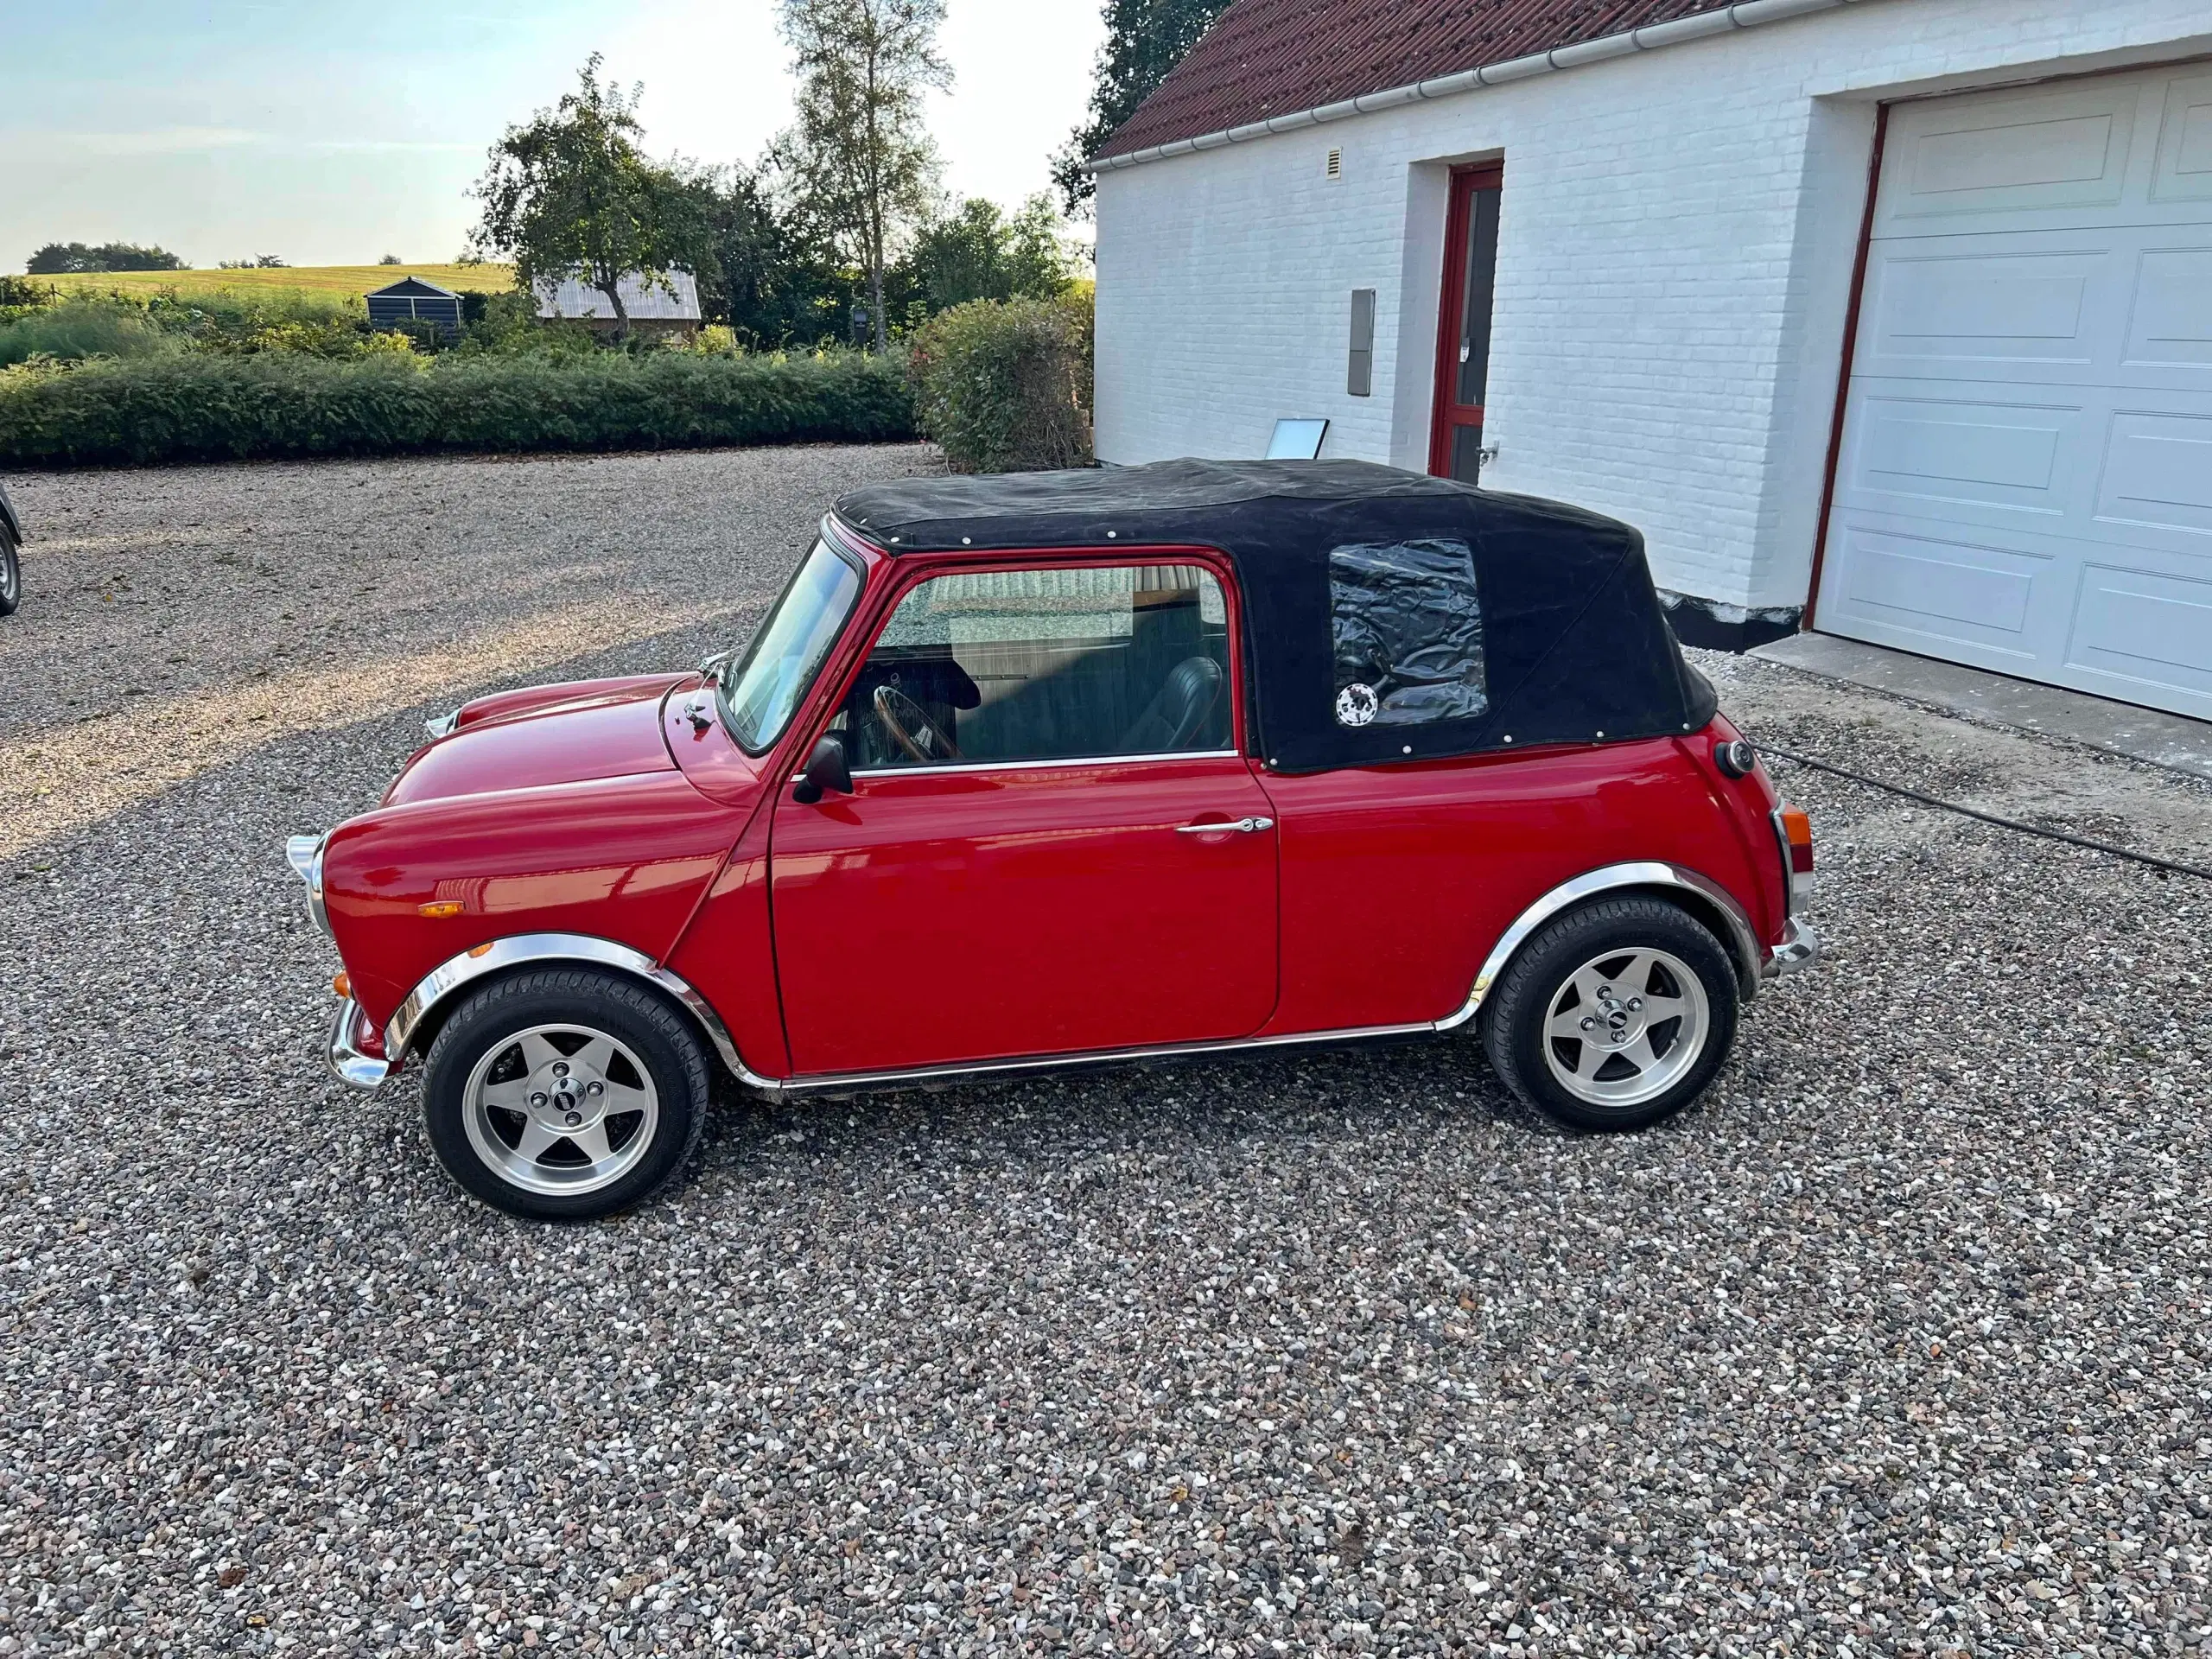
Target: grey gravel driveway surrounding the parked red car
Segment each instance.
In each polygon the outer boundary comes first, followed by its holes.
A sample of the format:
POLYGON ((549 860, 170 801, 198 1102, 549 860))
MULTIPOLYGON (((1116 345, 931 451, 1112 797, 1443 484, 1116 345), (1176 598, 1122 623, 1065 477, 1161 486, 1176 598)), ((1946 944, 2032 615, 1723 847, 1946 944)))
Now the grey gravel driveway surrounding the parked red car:
MULTIPOLYGON (((460 1199, 281 836, 681 664, 920 449, 9 480, 0 1655, 2212 1646, 2212 885, 1836 779, 1703 1108, 1473 1044, 739 1106, 460 1199)), ((1752 661, 1756 734, 2212 858, 2212 792, 1752 661)))

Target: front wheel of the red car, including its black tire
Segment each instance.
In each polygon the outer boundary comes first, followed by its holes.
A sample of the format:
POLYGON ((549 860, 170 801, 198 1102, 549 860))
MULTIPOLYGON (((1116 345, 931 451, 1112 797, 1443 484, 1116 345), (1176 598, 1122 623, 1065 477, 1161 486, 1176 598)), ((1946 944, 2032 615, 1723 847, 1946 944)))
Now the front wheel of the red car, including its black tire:
POLYGON ((697 1029, 653 991, 595 969, 538 969, 484 987, 438 1031, 422 1066, 422 1126, 447 1175, 484 1203, 533 1221, 597 1221, 675 1179, 706 1133, 710 1088, 697 1029), (571 1035, 582 1037, 573 1048, 571 1035), (582 1055, 599 1053, 599 1040, 611 1057, 593 1071, 582 1055), (551 1064, 564 1073, 555 1086, 577 1093, 535 1088, 546 1068, 531 1068, 524 1046, 562 1055, 551 1064), (591 1091, 595 1102, 582 1095, 586 1082, 568 1079, 571 1064, 577 1077, 604 1079, 591 1091), (520 1099, 518 1091, 533 1104, 489 1104, 495 1093, 520 1099), (626 1113, 617 1099, 644 1110, 626 1113), (557 1126, 564 1104, 580 1108, 566 1124, 588 1113, 575 1139, 557 1126), (555 1141, 526 1157, 526 1135, 555 1141), (641 1135, 650 1139, 639 1148, 641 1135), (604 1170, 591 1146, 602 1148, 604 1170))

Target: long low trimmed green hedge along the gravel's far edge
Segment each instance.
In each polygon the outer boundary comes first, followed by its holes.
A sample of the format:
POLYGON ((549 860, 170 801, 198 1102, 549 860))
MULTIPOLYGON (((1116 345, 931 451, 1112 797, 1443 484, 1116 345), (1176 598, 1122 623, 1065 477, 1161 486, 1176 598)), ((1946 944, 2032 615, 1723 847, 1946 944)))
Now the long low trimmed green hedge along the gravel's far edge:
POLYGON ((15 465, 902 438, 914 403, 900 363, 849 352, 354 363, 195 352, 0 372, 0 460, 15 465))

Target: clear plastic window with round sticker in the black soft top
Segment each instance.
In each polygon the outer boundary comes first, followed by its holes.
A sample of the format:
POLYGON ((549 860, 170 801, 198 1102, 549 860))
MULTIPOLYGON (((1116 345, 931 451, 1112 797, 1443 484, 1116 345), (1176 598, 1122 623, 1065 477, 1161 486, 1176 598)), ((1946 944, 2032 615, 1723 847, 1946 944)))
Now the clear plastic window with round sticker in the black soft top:
POLYGON ((1464 542, 1329 553, 1338 726, 1429 726, 1486 714, 1482 599, 1464 542))

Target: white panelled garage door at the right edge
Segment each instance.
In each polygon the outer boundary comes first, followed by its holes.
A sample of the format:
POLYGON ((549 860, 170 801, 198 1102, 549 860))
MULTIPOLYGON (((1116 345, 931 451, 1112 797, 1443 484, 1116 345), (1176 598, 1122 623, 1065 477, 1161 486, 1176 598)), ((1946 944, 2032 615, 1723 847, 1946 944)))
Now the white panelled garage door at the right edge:
POLYGON ((2212 719, 2212 66, 1891 111, 1816 626, 2212 719))

